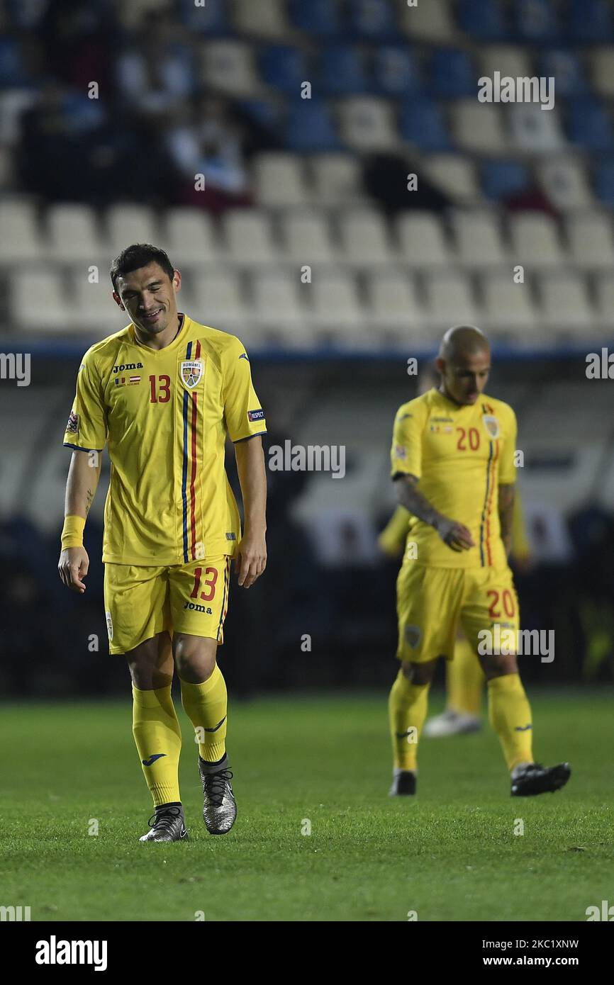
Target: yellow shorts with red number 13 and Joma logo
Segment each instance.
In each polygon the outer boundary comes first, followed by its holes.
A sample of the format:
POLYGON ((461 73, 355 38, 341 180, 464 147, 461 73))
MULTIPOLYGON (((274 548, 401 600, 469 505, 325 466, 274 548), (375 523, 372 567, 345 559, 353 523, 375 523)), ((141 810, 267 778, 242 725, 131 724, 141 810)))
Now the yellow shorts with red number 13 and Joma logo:
POLYGON ((224 642, 231 558, 218 555, 162 567, 104 564, 110 653, 126 653, 167 629, 224 642))

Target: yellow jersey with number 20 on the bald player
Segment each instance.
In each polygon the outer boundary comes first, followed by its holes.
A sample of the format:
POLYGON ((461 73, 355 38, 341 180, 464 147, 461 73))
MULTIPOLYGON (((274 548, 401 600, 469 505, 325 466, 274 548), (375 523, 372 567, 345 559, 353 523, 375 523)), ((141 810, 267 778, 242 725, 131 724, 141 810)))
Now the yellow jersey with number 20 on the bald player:
POLYGON ((420 492, 443 516, 464 524, 475 544, 468 551, 452 551, 433 527, 410 515, 407 543, 416 544, 418 563, 507 565, 499 485, 515 483, 515 439, 512 408, 486 394, 459 407, 432 389, 399 408, 390 450, 392 478, 416 476, 420 492))

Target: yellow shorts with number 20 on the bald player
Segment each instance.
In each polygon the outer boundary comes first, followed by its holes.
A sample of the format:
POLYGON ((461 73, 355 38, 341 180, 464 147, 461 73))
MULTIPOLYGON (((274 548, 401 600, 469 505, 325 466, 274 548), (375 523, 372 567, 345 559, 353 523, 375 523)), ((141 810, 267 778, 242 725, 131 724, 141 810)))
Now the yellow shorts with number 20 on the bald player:
POLYGON ((405 560, 396 580, 399 660, 426 663, 451 660, 458 624, 475 653, 484 636, 499 625, 517 631, 518 600, 512 571, 494 567, 425 567, 405 560))

